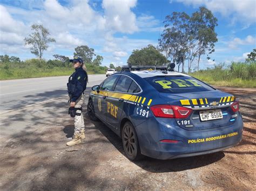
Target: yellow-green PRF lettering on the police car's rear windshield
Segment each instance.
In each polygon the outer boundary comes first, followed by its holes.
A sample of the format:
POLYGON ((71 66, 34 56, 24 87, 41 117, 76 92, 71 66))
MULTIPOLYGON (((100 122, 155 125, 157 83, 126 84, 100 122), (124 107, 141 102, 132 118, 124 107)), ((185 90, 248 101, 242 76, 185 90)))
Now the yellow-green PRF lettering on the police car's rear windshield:
POLYGON ((197 80, 158 80, 155 81, 155 83, 158 83, 163 89, 169 89, 172 88, 171 84, 176 83, 178 87, 190 87, 190 86, 196 86, 201 87, 201 85, 197 82, 197 80))

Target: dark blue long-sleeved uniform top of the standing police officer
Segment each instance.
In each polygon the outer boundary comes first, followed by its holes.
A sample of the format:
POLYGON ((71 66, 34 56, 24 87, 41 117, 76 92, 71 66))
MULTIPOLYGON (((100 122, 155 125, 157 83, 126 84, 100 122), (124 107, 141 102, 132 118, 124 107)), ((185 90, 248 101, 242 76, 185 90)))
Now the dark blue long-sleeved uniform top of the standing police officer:
POLYGON ((69 77, 68 92, 71 96, 71 102, 75 102, 86 89, 87 77, 87 73, 82 67, 77 68, 69 77))

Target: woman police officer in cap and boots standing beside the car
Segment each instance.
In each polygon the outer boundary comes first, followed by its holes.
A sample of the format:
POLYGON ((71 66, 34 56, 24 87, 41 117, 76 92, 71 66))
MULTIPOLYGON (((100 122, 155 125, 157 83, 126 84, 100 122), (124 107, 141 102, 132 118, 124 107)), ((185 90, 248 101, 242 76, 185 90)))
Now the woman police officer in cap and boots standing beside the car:
POLYGON ((82 143, 82 139, 85 139, 82 105, 85 99, 84 90, 86 89, 88 76, 82 58, 75 56, 70 62, 73 63, 75 72, 69 77, 67 85, 70 96, 69 112, 72 117, 75 117, 75 133, 72 140, 66 145, 73 146, 82 143))

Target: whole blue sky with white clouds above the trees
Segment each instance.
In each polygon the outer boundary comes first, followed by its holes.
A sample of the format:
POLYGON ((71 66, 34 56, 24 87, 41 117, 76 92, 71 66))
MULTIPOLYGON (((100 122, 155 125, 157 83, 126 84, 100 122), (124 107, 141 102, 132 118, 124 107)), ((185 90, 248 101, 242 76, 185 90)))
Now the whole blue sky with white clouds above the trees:
POLYGON ((42 24, 56 40, 44 59, 53 54, 72 58, 75 47, 87 45, 103 56, 104 66, 123 66, 133 49, 158 46, 167 15, 191 15, 199 6, 218 19, 215 52, 210 60, 203 56, 200 68, 244 61, 256 48, 255 0, 0 0, 0 55, 35 58, 24 38, 32 24, 42 24))

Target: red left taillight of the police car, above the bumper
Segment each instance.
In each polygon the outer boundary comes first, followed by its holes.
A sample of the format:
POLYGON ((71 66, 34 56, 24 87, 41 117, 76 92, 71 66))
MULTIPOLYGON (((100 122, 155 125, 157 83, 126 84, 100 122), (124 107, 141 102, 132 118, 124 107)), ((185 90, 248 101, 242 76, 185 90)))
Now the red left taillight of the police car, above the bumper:
POLYGON ((151 111, 156 117, 187 118, 192 110, 178 105, 152 105, 151 111))

